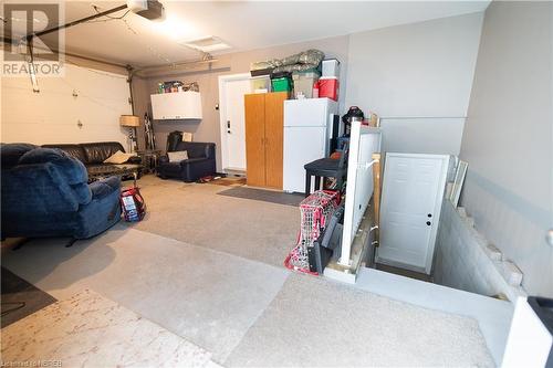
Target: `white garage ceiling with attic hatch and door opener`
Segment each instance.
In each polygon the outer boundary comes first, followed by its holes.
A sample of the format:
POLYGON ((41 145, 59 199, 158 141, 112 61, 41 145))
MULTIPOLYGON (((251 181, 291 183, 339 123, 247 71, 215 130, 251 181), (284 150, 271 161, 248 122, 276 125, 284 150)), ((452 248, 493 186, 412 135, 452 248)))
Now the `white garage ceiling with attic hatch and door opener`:
MULTIPOLYGON (((103 18, 79 24, 65 31, 65 50, 147 66, 198 60, 201 53, 184 43, 206 36, 215 36, 230 46, 211 52, 217 55, 479 12, 489 4, 489 1, 161 2, 165 21, 148 21, 128 13, 123 20, 103 18)), ((64 21, 94 14, 93 6, 104 11, 124 3, 67 1, 64 21)))

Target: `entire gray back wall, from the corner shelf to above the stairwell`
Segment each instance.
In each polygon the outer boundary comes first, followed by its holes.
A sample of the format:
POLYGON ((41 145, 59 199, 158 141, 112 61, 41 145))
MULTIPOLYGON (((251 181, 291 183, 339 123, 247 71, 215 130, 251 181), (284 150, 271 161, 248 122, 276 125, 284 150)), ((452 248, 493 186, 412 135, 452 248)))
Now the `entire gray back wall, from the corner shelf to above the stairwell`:
POLYGON ((204 119, 156 122, 156 137, 165 145, 167 133, 178 129, 215 141, 220 170, 218 76, 247 73, 252 62, 314 48, 342 63, 341 114, 359 105, 388 117, 382 123, 385 150, 458 155, 481 22, 482 13, 473 13, 218 56, 210 71, 166 71, 137 82, 136 109, 143 114, 159 81, 197 81, 204 119))

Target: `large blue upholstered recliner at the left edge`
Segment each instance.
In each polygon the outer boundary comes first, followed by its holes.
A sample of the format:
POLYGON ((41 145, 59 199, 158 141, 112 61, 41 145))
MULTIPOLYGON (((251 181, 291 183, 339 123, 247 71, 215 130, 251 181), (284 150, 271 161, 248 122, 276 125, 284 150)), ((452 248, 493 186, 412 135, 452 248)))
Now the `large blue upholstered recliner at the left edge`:
POLYGON ((84 165, 61 149, 0 146, 2 238, 100 234, 121 219, 118 177, 87 185, 84 165))

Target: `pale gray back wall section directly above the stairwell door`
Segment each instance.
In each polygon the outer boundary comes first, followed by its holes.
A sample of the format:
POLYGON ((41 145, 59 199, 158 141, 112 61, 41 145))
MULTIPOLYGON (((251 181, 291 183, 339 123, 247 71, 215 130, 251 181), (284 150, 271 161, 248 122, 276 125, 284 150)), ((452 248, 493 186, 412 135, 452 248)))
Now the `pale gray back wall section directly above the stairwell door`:
POLYGON ((382 117, 384 150, 458 155, 482 13, 349 35, 345 105, 382 117))

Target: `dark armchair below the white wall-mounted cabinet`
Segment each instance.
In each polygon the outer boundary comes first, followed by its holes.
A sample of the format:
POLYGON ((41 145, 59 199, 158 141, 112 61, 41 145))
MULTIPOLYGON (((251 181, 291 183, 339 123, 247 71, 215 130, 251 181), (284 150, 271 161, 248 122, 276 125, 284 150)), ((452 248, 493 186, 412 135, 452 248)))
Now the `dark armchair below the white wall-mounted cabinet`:
POLYGON ((169 162, 167 155, 159 157, 157 174, 161 179, 177 178, 191 182, 217 171, 213 143, 179 141, 174 151, 181 150, 188 153, 188 159, 169 162))

